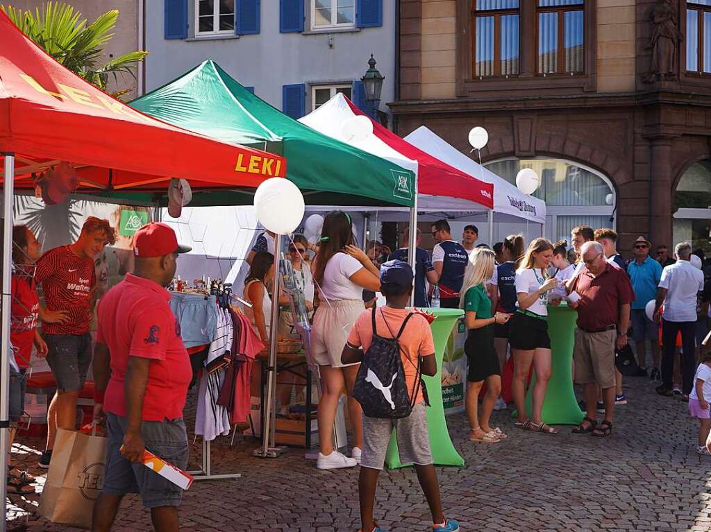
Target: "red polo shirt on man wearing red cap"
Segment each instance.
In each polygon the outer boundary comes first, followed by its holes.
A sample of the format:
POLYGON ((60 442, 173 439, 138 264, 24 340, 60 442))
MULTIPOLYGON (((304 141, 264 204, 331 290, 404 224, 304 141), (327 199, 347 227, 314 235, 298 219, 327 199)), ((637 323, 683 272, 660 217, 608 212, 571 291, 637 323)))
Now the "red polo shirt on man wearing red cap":
POLYGON ((127 273, 99 303, 97 342, 107 345, 111 359, 105 411, 126 416, 124 376, 129 357, 141 357, 151 359, 143 420, 183 417, 193 373, 170 299, 158 283, 127 273))

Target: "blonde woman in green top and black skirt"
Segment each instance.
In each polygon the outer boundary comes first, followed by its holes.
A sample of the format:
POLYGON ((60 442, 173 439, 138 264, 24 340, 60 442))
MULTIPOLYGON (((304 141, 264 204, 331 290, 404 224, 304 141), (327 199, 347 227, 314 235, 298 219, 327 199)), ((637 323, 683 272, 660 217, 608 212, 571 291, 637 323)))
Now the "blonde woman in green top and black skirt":
POLYGON ((489 426, 489 418, 501 394, 501 366, 493 344, 495 325, 503 325, 510 317, 506 313, 491 313, 485 283, 493 276, 495 254, 491 249, 476 248, 469 256, 461 287, 460 306, 464 308, 464 321, 469 335, 464 352, 469 360, 466 374, 466 415, 469 418, 469 440, 496 443, 506 438, 499 428, 489 426), (479 392, 486 381, 486 396, 481 403, 479 417, 479 392))

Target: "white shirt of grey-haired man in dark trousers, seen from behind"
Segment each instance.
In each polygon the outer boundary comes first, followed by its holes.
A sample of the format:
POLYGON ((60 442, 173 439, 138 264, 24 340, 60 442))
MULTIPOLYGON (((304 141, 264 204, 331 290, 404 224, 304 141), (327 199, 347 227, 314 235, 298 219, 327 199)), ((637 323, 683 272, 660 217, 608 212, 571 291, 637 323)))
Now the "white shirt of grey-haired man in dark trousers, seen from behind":
POLYGON ((666 288, 663 318, 668 322, 695 322, 696 296, 704 289, 704 274, 689 261, 676 261, 662 270, 659 288, 666 288))

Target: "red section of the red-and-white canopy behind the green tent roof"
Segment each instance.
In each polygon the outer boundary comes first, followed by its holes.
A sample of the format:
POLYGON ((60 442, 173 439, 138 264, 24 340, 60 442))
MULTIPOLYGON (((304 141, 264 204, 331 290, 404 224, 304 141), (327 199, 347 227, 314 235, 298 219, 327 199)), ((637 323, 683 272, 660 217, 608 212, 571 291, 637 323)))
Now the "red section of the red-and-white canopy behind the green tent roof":
MULTIPOLYGON (((368 116, 363 111, 345 98, 353 114, 368 116)), ((473 178, 471 175, 457 170, 454 166, 443 163, 438 158, 432 157, 419 148, 412 146, 405 139, 401 139, 390 129, 379 124, 368 116, 373 122, 373 134, 390 148, 402 156, 413 159, 419 163, 417 172, 417 192, 433 196, 459 197, 470 200, 487 209, 493 209, 493 185, 473 178)))

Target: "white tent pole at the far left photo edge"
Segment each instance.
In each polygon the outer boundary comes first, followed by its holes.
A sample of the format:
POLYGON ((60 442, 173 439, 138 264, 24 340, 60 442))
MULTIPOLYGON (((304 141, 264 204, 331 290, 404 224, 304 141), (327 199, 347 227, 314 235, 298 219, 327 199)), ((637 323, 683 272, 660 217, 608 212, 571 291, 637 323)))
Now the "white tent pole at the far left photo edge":
MULTIPOLYGON (((3 186, 3 248, 2 248, 2 339, 0 357, 0 450, 2 450, 5 467, 6 452, 9 443, 9 385, 10 385, 10 305, 12 300, 11 277, 12 277, 12 206, 13 206, 13 185, 15 176, 15 155, 14 153, 4 153, 5 158, 5 181, 3 186)), ((7 516, 7 476, 0 480, 0 500, 2 501, 2 514, 7 516)), ((2 519, 0 531, 6 530, 6 518, 2 519)))

